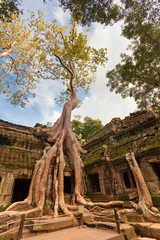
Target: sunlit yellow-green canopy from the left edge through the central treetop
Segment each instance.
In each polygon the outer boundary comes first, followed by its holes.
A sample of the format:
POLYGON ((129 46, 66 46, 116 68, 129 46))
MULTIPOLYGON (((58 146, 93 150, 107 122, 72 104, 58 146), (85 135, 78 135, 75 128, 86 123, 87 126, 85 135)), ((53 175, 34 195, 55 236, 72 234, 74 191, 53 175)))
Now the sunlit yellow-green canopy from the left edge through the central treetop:
MULTIPOLYGON (((88 46, 87 32, 78 33, 74 22, 61 27, 55 20, 45 21, 40 11, 38 17, 30 13, 28 25, 20 15, 13 19, 2 22, 0 29, 0 93, 7 100, 24 106, 40 79, 61 80, 67 89, 71 64, 75 71, 74 87, 88 91, 98 65, 107 61, 106 49, 88 46)), ((67 90, 60 100, 64 96, 69 96, 67 90)))

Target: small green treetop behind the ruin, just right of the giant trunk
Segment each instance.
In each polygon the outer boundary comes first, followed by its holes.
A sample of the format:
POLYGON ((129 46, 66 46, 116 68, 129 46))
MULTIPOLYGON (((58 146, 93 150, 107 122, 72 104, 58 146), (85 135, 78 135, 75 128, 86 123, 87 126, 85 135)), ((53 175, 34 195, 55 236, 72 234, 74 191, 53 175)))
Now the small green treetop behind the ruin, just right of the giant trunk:
POLYGON ((83 142, 88 141, 91 135, 103 127, 101 120, 94 120, 90 117, 85 117, 83 122, 74 119, 71 124, 73 132, 76 133, 83 142))

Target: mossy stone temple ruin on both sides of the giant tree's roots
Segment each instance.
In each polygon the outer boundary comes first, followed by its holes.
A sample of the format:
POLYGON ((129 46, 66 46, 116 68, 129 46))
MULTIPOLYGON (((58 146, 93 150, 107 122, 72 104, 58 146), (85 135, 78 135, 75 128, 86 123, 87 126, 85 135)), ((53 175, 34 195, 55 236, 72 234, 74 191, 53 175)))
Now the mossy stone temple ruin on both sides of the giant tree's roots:
MULTIPOLYGON (((44 139, 34 128, 0 120, 0 210, 24 200, 35 162, 40 159, 44 139)), ((160 118, 152 111, 138 111, 121 120, 114 118, 83 146, 84 194, 92 201, 137 200, 136 183, 125 154, 135 153, 153 203, 160 202, 160 118)), ((53 164, 47 199, 53 181, 53 164)), ((64 193, 70 201, 74 176, 69 164, 64 174, 64 193)), ((46 199, 46 200, 47 200, 46 199)))

